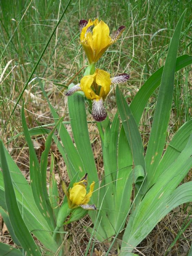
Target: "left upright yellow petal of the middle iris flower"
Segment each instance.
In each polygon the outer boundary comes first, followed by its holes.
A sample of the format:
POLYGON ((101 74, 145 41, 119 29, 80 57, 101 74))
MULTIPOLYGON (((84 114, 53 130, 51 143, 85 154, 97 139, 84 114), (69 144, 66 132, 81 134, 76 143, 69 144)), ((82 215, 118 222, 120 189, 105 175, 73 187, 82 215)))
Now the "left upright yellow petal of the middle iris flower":
POLYGON ((91 85, 94 82, 96 76, 96 72, 93 75, 85 75, 81 79, 81 89, 85 93, 85 97, 88 98, 89 100, 95 100, 97 98, 100 98, 92 89, 91 85))

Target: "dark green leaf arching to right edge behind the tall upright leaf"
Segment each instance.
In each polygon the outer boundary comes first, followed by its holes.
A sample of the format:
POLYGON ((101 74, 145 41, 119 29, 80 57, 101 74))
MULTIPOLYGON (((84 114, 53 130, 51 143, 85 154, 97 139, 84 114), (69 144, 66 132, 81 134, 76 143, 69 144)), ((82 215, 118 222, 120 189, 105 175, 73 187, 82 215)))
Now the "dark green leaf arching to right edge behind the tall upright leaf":
MULTIPOLYGON (((184 67, 187 67, 190 64, 192 64, 191 55, 184 54, 177 57, 175 72, 179 71, 184 67)), ((130 109, 137 125, 139 125, 140 119, 142 117, 143 111, 149 98, 160 85, 163 69, 164 66, 155 71, 155 73, 153 73, 151 77, 147 79, 147 81, 141 86, 139 91, 136 93, 135 97, 133 98, 130 104, 130 109)))

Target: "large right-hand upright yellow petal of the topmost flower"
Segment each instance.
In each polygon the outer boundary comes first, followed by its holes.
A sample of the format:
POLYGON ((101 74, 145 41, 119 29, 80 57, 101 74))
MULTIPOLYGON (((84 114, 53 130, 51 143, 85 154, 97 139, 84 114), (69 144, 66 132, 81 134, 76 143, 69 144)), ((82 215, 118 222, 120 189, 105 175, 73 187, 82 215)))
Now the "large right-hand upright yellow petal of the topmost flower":
POLYGON ((109 36, 109 27, 105 22, 100 21, 93 28, 93 46, 95 51, 95 62, 104 54, 105 50, 109 47, 110 42, 111 38, 109 36))

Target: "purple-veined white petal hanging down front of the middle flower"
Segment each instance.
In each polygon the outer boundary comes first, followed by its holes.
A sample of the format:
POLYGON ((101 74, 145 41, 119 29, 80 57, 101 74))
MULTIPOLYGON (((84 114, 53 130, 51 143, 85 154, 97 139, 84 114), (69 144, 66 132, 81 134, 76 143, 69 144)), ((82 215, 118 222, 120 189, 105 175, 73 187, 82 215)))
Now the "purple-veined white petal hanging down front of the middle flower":
POLYGON ((91 114, 94 120, 97 122, 105 120, 105 118, 107 117, 107 110, 104 106, 102 98, 100 98, 99 100, 93 100, 91 114))

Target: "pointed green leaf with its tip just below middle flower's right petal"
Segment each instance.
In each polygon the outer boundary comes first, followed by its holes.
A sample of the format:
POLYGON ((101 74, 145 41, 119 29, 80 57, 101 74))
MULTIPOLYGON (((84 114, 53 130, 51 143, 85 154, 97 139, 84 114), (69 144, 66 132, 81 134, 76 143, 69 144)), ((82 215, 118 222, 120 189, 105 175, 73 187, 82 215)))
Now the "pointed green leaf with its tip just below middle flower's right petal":
POLYGON ((123 128, 133 155, 134 165, 141 165, 145 170, 144 149, 141 134, 119 86, 117 86, 116 89, 116 99, 123 128))

